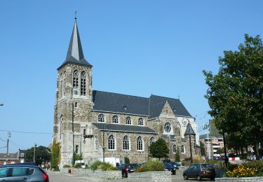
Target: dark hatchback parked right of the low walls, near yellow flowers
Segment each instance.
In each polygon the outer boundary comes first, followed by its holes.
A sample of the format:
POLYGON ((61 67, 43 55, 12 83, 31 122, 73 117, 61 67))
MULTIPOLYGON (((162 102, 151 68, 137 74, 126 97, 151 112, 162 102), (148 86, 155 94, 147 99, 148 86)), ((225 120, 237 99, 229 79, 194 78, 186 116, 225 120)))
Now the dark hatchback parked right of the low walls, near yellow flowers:
POLYGON ((196 178, 197 181, 201 181, 203 178, 211 180, 215 179, 215 169, 210 164, 191 164, 183 174, 184 180, 189 178, 196 178))

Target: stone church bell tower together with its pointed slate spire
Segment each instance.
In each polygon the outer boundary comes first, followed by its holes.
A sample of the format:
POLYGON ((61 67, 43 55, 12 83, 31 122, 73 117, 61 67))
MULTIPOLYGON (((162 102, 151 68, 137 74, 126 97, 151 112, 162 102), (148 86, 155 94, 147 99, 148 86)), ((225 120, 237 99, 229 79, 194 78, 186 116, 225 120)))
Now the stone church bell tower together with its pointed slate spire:
MULTIPOLYGON (((76 18, 75 18, 76 19, 76 18)), ((53 139, 60 144, 60 166, 71 165, 74 153, 81 153, 81 136, 93 108, 92 65, 84 58, 76 23, 65 62, 58 68, 54 108, 53 139)))

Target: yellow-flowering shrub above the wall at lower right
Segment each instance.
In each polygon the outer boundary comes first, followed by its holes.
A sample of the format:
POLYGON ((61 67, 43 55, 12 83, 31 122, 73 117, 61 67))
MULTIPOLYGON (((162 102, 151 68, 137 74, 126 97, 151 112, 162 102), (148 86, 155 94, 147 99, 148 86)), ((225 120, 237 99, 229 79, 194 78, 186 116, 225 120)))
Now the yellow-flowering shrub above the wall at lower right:
POLYGON ((238 166, 234 168, 234 170, 227 171, 227 176, 229 177, 252 177, 255 176, 257 172, 257 169, 255 168, 249 168, 249 167, 243 167, 243 166, 238 166))

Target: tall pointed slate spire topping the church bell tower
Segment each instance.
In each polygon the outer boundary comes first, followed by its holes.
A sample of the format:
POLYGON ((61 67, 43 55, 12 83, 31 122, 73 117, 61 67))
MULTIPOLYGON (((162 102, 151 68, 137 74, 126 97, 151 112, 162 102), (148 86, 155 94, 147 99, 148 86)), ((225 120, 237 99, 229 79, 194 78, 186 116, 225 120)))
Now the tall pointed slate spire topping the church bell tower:
MULTIPOLYGON (((81 66, 92 66, 84 58, 81 46, 81 38, 79 37, 79 29, 78 25, 76 25, 76 18, 72 31, 72 37, 70 38, 69 42, 69 49, 67 50, 67 57, 65 59, 65 62, 63 62, 61 66, 67 63, 79 64, 81 66)), ((60 67, 58 69, 60 69, 60 67)))

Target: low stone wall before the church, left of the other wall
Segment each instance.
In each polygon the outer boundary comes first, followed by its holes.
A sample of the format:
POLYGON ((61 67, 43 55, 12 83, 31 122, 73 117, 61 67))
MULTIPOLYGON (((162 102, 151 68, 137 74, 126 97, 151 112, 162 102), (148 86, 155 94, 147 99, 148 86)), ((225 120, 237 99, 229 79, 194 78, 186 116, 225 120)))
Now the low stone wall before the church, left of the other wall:
MULTIPOLYGON (((121 171, 102 171, 101 169, 93 170, 93 169, 78 169, 78 168, 71 168, 73 169, 72 174, 76 174, 79 176, 94 176, 100 177, 100 179, 121 179, 121 171)), ((69 173, 69 168, 60 169, 62 173, 69 173)))

